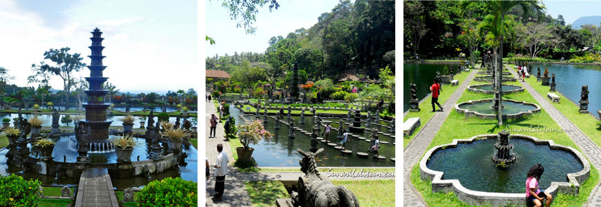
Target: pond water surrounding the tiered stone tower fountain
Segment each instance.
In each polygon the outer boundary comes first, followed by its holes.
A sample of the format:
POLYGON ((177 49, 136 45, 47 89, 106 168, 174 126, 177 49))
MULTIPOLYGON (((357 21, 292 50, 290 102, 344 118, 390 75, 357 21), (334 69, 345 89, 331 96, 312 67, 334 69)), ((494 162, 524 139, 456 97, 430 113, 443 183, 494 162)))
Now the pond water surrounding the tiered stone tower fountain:
MULTIPOLYGON (((55 161, 63 161, 63 155, 67 156, 67 162, 75 162, 77 157, 77 151, 75 150, 75 141, 73 136, 61 137, 57 142, 57 147, 53 151, 53 157, 55 161)), ((140 146, 136 146, 133 150, 131 160, 135 161, 137 156, 140 155, 140 160, 147 160, 148 152, 146 142, 144 139, 137 139, 137 142, 141 143, 140 146)), ((21 168, 18 166, 6 164, 6 153, 7 148, 0 150, 0 175, 10 175, 14 173, 22 176, 25 179, 38 179, 42 185, 45 186, 77 186, 79 179, 74 178, 61 178, 56 179, 55 176, 40 175, 35 172, 20 172, 21 168)), ((150 181, 163 179, 165 177, 182 177, 182 179, 198 182, 198 152, 193 146, 183 146, 183 152, 186 152, 188 157, 186 158, 185 166, 175 166, 171 170, 166 170, 158 174, 152 174, 150 176, 144 175, 140 177, 129 177, 129 178, 116 178, 111 177, 113 186, 117 189, 125 189, 131 187, 143 187, 150 181)), ((30 155, 35 157, 35 154, 30 155)), ((88 153, 90 162, 101 161, 106 163, 115 163, 116 155, 115 151, 112 152, 90 152, 88 153)))

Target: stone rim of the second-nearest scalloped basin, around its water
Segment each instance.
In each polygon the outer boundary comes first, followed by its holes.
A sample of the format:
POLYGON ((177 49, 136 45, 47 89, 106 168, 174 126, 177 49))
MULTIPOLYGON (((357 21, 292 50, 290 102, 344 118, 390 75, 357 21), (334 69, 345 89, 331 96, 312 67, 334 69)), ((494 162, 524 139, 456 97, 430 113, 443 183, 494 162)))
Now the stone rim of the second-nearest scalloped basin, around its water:
MULTIPOLYGON (((511 114, 511 115, 503 115, 503 119, 521 119, 522 117, 525 117, 527 115, 533 115, 533 113, 537 113, 540 112, 540 106, 538 106, 536 103, 528 103, 526 101, 517 101, 517 100, 512 100, 512 99, 504 99, 503 101, 511 101, 513 103, 522 103, 522 104, 526 104, 526 105, 530 105, 530 106, 535 106, 536 108, 534 110, 528 110, 528 111, 523 111, 523 112, 519 112, 517 114, 511 114)), ((459 114, 465 114, 466 117, 478 117, 480 119, 497 119, 497 115, 493 115, 493 114, 482 114, 480 112, 475 112, 475 111, 471 111, 468 109, 464 109, 464 108, 459 108, 460 106, 466 105, 466 104, 470 104, 470 103, 480 103, 480 102, 493 102, 493 99, 479 99, 479 100, 470 100, 470 101, 466 101, 466 102, 461 102, 461 103, 457 103, 455 105, 455 110, 457 110, 457 112, 459 112, 459 114)))

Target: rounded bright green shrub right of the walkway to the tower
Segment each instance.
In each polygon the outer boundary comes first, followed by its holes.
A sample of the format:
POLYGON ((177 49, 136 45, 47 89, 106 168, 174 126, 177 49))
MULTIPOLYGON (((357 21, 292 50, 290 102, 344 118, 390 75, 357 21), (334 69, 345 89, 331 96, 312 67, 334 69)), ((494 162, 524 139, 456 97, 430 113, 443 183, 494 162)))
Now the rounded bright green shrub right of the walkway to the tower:
POLYGON ((193 181, 166 177, 151 181, 137 194, 138 206, 197 206, 198 188, 193 181))

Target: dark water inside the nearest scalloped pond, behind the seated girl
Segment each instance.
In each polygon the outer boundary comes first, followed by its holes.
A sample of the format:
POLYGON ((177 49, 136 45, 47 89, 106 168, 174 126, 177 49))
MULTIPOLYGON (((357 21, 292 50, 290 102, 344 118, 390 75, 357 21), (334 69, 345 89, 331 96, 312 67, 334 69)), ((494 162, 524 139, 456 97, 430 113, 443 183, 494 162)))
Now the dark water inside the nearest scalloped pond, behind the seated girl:
POLYGON ((458 144, 435 152, 428 168, 444 172, 443 179, 459 179, 470 189, 495 193, 526 193, 526 173, 535 164, 542 164, 544 174, 540 188, 546 189, 552 181, 567 181, 566 174, 582 170, 582 164, 570 152, 551 150, 548 145, 537 145, 526 139, 510 139, 516 160, 506 169, 499 169, 491 160, 497 139, 458 144), (550 157, 553 157, 552 161, 550 157))

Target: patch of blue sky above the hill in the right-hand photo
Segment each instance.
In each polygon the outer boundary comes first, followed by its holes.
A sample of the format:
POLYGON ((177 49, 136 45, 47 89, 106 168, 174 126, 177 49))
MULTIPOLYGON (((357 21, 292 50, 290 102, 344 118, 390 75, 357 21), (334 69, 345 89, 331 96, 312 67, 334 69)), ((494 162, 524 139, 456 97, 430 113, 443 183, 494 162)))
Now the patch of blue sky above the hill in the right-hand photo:
POLYGON ((573 23, 580 17, 601 16, 601 1, 543 1, 546 12, 557 18, 562 14, 566 24, 573 23))

